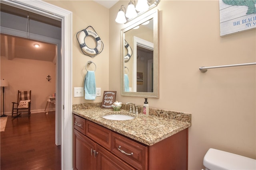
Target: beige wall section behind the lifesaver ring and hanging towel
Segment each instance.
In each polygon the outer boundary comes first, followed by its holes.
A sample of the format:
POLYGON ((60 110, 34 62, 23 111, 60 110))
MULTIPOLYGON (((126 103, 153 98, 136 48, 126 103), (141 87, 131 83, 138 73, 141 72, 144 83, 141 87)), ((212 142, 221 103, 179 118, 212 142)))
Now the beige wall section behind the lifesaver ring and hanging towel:
MULTIPOLYGON (((86 76, 85 65, 88 61, 93 61, 96 64, 95 78, 96 87, 101 88, 101 94, 104 90, 109 89, 109 10, 104 6, 94 1, 48 1, 50 4, 54 4, 61 8, 71 11, 73 14, 73 88, 84 87, 84 76, 86 76), (102 53, 92 58, 84 55, 80 49, 79 43, 76 39, 76 33, 85 29, 88 26, 92 26, 96 33, 100 36, 100 39, 104 43, 104 49, 102 53)), ((92 43, 92 39, 86 37, 86 43, 92 43), (88 39, 87 39, 88 38, 88 39)), ((89 45, 88 45, 89 46, 89 45)), ((96 45, 89 46, 94 48, 96 45)), ((94 64, 87 67, 88 70, 94 70, 94 64)), ((74 96, 74 95, 73 95, 74 96)), ((84 97, 74 98, 73 104, 102 102, 102 96, 96 97, 96 100, 85 100, 84 97)))

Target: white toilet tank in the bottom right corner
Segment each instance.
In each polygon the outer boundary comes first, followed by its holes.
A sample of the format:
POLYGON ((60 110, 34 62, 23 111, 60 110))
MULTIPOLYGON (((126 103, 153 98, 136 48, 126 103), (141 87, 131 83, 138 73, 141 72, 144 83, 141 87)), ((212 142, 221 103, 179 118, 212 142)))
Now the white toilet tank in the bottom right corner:
POLYGON ((256 160, 210 148, 205 156, 205 170, 256 170, 256 160))

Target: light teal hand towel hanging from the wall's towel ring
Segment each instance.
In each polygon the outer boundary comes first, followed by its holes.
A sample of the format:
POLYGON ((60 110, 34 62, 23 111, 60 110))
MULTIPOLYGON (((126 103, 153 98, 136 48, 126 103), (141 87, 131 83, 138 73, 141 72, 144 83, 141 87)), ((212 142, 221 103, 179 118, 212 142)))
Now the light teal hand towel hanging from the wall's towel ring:
POLYGON ((84 78, 84 98, 86 100, 96 99, 96 83, 94 71, 88 71, 84 78))

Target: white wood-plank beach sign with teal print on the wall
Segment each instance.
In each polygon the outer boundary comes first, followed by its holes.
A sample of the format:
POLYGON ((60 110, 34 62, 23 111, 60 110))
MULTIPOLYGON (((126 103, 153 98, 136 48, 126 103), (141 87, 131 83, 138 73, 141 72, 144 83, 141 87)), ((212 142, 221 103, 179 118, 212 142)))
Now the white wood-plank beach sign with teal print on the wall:
POLYGON ((219 0, 220 36, 256 28, 255 0, 219 0))

